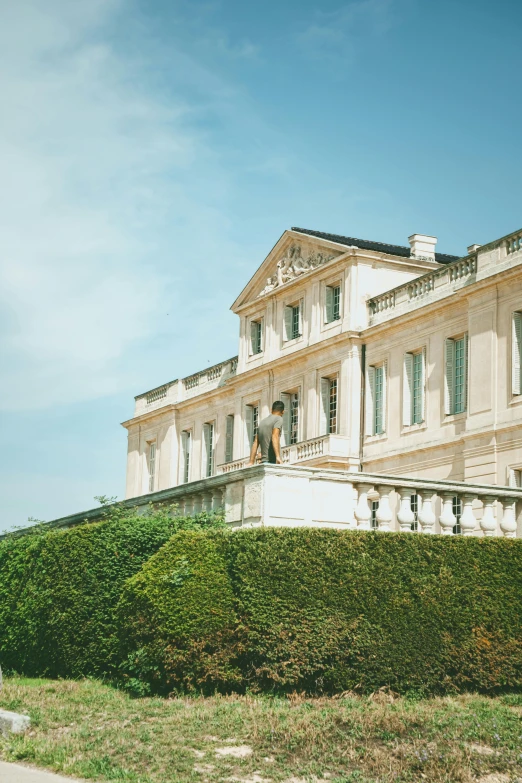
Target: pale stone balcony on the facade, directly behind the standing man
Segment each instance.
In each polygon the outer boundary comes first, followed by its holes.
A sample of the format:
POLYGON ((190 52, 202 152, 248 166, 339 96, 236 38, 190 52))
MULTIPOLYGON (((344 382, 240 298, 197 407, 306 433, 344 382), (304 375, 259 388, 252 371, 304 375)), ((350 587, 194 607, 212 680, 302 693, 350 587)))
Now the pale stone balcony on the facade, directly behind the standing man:
MULTIPOLYGON (((310 467, 356 469, 353 458, 350 459, 350 438, 344 435, 321 435, 318 438, 283 446, 281 449, 283 465, 310 465, 310 467)), ((248 457, 224 462, 217 467, 218 475, 233 473, 246 468, 248 457)), ((355 460, 357 462, 357 460, 355 460)))

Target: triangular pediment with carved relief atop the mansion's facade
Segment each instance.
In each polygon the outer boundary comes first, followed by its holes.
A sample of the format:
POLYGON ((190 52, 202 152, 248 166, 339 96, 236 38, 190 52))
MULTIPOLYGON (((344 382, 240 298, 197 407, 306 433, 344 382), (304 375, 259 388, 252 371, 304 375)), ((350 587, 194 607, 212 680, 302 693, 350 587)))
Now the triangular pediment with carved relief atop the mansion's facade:
POLYGON ((273 295, 303 275, 313 274, 347 251, 348 247, 336 242, 325 242, 296 231, 285 231, 231 309, 235 312, 247 304, 273 295))

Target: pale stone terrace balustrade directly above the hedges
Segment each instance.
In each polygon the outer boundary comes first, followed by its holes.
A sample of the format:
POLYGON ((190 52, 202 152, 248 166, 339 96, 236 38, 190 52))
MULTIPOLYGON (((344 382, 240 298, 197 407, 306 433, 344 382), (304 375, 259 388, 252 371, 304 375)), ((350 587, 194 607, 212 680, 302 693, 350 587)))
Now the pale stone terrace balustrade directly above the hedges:
MULTIPOLYGON (((231 527, 311 526, 442 535, 458 530, 463 536, 515 538, 522 489, 288 464, 254 465, 132 498, 123 505, 145 512, 151 503, 173 505, 184 515, 224 509, 231 527)), ((68 527, 100 519, 104 513, 92 509, 48 524, 68 527)))

